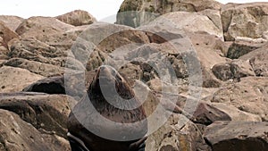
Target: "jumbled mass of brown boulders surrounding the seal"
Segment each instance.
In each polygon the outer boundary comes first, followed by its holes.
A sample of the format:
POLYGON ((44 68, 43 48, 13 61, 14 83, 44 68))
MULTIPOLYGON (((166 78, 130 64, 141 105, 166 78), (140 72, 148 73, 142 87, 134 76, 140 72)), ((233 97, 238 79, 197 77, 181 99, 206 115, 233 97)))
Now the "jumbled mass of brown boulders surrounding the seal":
POLYGON ((68 115, 107 64, 129 80, 148 118, 162 106, 149 130, 169 115, 146 151, 265 151, 267 8, 125 0, 117 24, 84 11, 1 15, 0 150, 71 150, 68 115))

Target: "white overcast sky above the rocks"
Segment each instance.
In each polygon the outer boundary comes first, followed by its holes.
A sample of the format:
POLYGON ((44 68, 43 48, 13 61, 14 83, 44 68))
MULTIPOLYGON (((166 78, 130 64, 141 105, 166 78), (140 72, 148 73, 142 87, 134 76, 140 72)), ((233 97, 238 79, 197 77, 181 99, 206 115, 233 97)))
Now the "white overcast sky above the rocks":
MULTIPOLYGON (((76 9, 88 11, 98 21, 114 15, 123 0, 4 0, 0 4, 0 14, 16 15, 22 18, 31 16, 57 16, 76 9)), ((222 4, 268 2, 268 0, 218 0, 222 4)))

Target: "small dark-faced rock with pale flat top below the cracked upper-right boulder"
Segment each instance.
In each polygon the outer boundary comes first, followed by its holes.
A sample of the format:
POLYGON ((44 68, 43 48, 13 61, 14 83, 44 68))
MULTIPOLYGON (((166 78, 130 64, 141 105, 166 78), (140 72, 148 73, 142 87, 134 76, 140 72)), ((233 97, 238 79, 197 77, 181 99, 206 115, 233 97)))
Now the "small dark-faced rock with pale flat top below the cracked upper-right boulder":
POLYGON ((238 59, 240 56, 247 55, 248 53, 262 46, 264 46, 264 44, 253 43, 252 41, 234 41, 230 45, 225 56, 230 59, 238 59))

